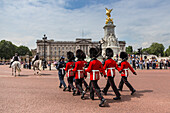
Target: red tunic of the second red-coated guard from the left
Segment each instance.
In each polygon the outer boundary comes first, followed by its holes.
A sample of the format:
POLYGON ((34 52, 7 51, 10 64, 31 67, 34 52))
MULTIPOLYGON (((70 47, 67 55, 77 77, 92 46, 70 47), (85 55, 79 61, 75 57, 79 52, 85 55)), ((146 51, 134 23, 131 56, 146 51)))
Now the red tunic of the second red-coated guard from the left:
POLYGON ((72 71, 74 71, 75 74, 75 79, 80 79, 80 78, 84 78, 84 70, 83 67, 85 66, 85 61, 77 61, 75 63, 75 67, 72 71))

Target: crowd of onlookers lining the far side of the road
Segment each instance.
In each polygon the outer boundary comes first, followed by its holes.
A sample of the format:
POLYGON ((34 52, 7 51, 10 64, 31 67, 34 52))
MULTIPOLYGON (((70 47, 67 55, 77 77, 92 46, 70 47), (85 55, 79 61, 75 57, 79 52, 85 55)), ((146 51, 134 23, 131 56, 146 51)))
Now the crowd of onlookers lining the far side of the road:
MULTIPOLYGON (((117 64, 119 65, 121 63, 120 60, 116 60, 117 64)), ((161 59, 158 61, 156 58, 149 58, 149 59, 141 59, 139 57, 133 57, 130 56, 128 59, 129 63, 132 65, 134 69, 170 69, 170 59, 161 59)), ((9 65, 9 61, 0 61, 0 65, 9 65)), ((25 69, 31 69, 32 63, 29 62, 21 62, 23 65, 23 68, 25 69)), ((49 70, 52 69, 52 67, 55 67, 57 65, 57 61, 48 61, 46 63, 49 70)))

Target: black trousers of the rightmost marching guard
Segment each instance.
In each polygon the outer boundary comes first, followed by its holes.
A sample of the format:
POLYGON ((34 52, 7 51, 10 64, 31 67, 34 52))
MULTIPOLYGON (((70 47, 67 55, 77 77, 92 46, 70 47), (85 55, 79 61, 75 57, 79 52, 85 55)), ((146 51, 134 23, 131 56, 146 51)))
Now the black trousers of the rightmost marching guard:
POLYGON ((123 89, 123 84, 124 84, 124 83, 126 84, 126 86, 127 86, 131 91, 134 90, 134 88, 131 86, 131 84, 127 81, 127 77, 125 77, 125 76, 122 76, 121 81, 120 81, 120 83, 119 83, 119 89, 120 89, 120 90, 123 89))

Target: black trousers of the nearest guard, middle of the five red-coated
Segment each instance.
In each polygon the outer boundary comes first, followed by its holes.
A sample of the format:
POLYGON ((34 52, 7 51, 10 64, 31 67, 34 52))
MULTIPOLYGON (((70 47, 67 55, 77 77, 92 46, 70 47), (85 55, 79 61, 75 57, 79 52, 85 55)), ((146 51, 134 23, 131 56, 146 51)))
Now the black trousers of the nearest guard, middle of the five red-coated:
POLYGON ((94 99, 94 93, 97 94, 100 100, 103 99, 103 96, 101 95, 100 87, 97 84, 98 80, 91 80, 90 81, 90 98, 94 99))

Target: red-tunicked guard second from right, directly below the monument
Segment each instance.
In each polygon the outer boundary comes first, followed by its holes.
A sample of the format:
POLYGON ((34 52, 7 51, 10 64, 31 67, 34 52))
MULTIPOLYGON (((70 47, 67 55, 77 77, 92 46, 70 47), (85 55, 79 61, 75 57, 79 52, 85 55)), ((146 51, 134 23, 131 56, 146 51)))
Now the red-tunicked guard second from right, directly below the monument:
MULTIPOLYGON (((111 86, 113 91, 115 92, 116 94, 116 97, 113 98, 114 100, 120 100, 120 93, 115 85, 115 82, 114 82, 114 77, 115 77, 115 69, 118 69, 118 65, 116 63, 116 61, 114 61, 112 59, 113 57, 113 50, 111 48, 107 48, 106 49, 106 56, 108 57, 107 60, 105 61, 105 64, 104 64, 104 70, 107 70, 107 84, 105 86, 105 88, 102 90, 102 92, 107 95, 107 91, 109 89, 109 87, 111 86)), ((105 76, 106 78, 106 76, 105 76)))

